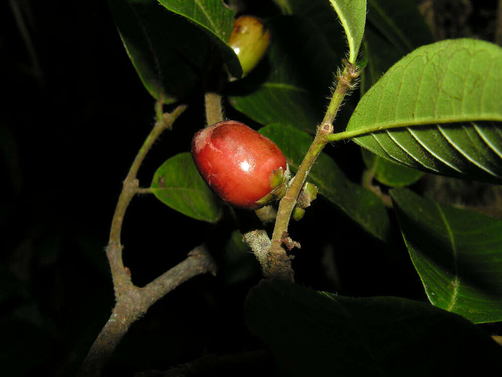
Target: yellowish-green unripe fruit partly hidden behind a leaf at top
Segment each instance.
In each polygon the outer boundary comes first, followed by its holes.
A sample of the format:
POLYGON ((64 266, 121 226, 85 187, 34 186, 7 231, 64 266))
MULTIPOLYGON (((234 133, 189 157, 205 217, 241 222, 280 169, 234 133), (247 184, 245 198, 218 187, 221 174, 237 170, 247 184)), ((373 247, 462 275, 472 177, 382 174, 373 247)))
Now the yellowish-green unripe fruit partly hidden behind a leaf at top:
POLYGON ((240 16, 233 24, 228 45, 235 51, 242 66, 242 77, 256 67, 269 48, 270 32, 253 16, 240 16))

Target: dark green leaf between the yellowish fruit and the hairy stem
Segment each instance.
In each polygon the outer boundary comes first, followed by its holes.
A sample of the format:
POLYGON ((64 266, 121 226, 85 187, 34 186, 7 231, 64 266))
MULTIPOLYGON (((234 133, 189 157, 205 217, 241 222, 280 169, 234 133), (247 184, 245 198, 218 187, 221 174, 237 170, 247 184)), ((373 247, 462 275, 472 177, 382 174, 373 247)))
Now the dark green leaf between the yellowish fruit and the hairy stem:
POLYGON ((336 43, 341 52, 343 40, 340 35, 328 40, 318 23, 306 17, 278 17, 268 26, 272 42, 267 56, 233 86, 230 104, 264 125, 281 122, 313 131, 324 115, 332 72, 342 56, 336 54, 336 43))

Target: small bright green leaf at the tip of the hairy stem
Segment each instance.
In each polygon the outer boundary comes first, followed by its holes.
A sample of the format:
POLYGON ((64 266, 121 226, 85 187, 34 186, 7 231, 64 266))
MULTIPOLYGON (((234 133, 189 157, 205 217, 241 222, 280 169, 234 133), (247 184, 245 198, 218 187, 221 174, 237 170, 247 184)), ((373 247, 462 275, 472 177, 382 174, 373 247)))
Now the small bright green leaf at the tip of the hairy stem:
POLYGON ((348 40, 349 58, 355 64, 364 34, 366 0, 330 0, 348 40))

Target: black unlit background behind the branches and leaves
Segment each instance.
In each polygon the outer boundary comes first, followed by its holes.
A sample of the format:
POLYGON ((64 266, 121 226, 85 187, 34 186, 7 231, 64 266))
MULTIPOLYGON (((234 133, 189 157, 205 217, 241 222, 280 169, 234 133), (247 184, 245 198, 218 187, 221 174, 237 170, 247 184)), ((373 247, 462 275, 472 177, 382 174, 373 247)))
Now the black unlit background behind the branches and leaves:
MULTIPOLYGON (((427 14, 432 2, 419 3, 427 14)), ((496 1, 475 3, 434 2, 436 37, 492 40, 496 1)), ((277 12, 270 5, 255 11, 277 12)), ((121 181, 153 126, 154 102, 104 1, 2 2, 0 36, 0 373, 72 375, 113 307, 104 247, 121 181)), ((189 109, 140 169, 144 187, 163 161, 189 149, 204 124, 202 93, 185 102, 189 109)), ((259 127, 226 109, 229 118, 259 127)), ((327 149, 359 181, 355 144, 327 149)), ((246 292, 260 274, 236 284, 227 278, 223 250, 234 228, 230 216, 215 226, 151 195, 133 200, 122 243, 135 284, 147 284, 205 239, 220 272, 196 277, 155 304, 120 344, 110 373, 262 347, 242 319, 246 292)), ((302 244, 293 264, 300 284, 354 297, 426 300, 399 233, 383 244, 322 198, 290 230, 302 244), (314 239, 314 232, 325 236, 314 239)))

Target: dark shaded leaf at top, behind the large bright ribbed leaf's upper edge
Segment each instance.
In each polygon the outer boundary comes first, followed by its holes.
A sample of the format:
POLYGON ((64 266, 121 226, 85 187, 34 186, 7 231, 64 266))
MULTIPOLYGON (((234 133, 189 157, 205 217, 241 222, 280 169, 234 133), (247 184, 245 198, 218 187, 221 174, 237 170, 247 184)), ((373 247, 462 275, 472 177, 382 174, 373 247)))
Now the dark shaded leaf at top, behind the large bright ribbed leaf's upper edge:
POLYGON ((368 65, 361 72, 361 94, 407 53, 432 42, 415 2, 369 0, 363 39, 368 65))

